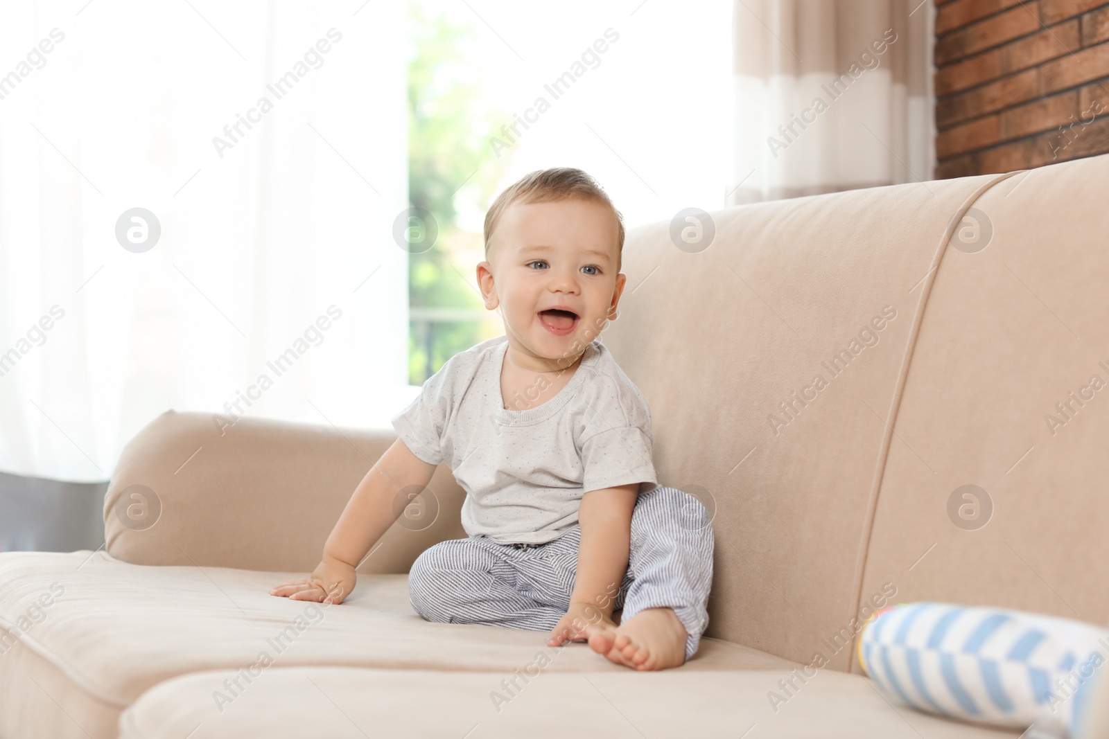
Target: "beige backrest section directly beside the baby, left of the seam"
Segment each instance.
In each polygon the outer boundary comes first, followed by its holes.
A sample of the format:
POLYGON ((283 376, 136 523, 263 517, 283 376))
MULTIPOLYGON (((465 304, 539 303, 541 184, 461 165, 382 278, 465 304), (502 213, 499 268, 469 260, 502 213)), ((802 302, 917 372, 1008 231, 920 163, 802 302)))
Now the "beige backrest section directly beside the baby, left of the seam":
POLYGON ((651 406, 660 483, 715 509, 709 636, 803 663, 820 650, 847 669, 849 649, 823 639, 877 592, 858 585, 918 283, 953 217, 1004 177, 731 208, 699 254, 676 248, 668 223, 633 232, 602 340, 651 406), (833 377, 822 362, 885 306, 896 318, 878 343, 833 377), (777 404, 816 374, 827 387, 775 434, 769 417, 787 419, 777 404))

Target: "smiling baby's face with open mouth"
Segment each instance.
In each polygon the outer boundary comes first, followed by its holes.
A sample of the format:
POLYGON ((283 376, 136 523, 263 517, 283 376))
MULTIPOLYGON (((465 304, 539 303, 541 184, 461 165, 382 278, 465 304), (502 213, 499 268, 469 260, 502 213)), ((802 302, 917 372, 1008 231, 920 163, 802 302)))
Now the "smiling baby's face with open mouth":
POLYGON ((592 201, 513 203, 501 214, 478 284, 511 347, 567 365, 581 356, 623 291, 618 238, 615 216, 592 201))

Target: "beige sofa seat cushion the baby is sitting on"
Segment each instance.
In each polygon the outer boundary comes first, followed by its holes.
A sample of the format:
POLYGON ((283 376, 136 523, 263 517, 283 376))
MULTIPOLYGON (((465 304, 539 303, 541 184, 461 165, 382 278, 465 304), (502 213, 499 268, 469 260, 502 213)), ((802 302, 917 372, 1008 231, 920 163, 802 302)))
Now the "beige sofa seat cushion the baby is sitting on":
MULTIPOLYGON (((73 721, 62 716, 54 732, 42 736, 89 731, 99 739, 92 727, 114 722, 113 711, 154 685, 186 673, 264 664, 263 655, 271 669, 334 665, 511 674, 540 654, 550 658, 549 673, 627 669, 583 643, 547 647, 546 633, 426 622, 408 601, 403 574, 362 575, 349 599, 327 607, 268 594, 296 576, 303 573, 133 565, 104 552, 0 555, 0 626, 9 629, 0 629, 0 649, 7 653, 0 656, 0 736, 39 736, 28 732, 34 723, 29 707, 57 714, 57 701, 74 714, 73 721), (78 728, 78 721, 91 726, 78 728)), ((679 669, 792 667, 756 649, 704 638, 698 655, 679 669)))

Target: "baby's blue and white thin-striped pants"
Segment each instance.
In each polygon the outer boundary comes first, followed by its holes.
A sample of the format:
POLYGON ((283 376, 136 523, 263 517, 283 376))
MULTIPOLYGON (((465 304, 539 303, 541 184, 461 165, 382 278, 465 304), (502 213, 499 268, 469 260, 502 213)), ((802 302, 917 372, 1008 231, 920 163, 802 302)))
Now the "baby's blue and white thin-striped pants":
MULTIPOLYGON (((549 632, 570 607, 580 543, 580 525, 546 544, 439 542, 413 563, 409 599, 430 622, 549 632)), ((620 623, 644 608, 673 608, 688 634, 685 659, 696 654, 709 624, 712 552, 712 522, 700 501, 674 487, 640 494, 614 598, 620 623)))

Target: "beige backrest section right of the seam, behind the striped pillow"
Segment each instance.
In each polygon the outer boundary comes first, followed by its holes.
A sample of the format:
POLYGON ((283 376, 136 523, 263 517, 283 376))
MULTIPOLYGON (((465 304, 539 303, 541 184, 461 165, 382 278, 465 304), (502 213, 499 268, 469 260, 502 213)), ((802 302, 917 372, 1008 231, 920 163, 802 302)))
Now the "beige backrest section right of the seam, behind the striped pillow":
POLYGON ((905 601, 1109 619, 1107 175, 1107 156, 1017 175, 975 203, 994 242, 945 253, 896 417, 864 592, 892 581, 905 601), (1045 417, 1066 420, 1056 403, 1093 374, 1102 389, 1071 401, 1071 420, 1052 434, 1045 417), (980 528, 948 519, 964 484, 993 501, 980 528))

